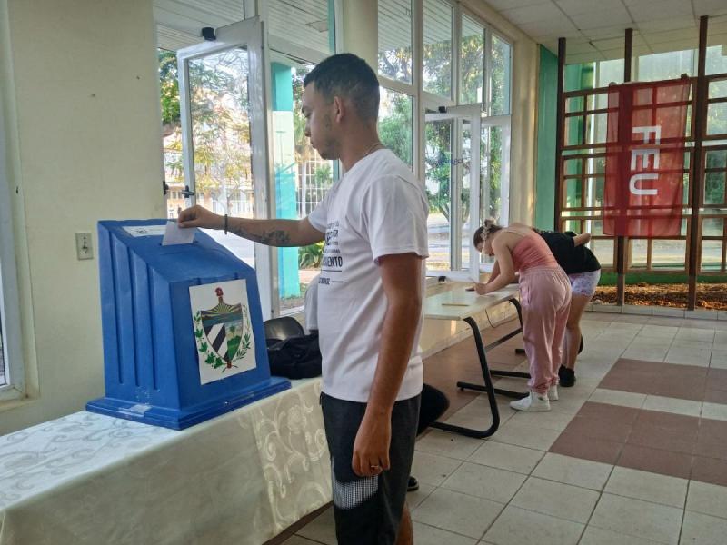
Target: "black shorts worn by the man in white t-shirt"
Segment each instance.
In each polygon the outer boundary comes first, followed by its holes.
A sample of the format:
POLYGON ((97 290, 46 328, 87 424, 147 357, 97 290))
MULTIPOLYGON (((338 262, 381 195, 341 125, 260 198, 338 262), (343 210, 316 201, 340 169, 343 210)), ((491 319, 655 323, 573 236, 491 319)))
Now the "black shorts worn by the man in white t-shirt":
POLYGON ((420 401, 421 395, 417 395, 393 405, 391 469, 374 477, 359 477, 351 461, 366 403, 321 394, 331 453, 335 534, 340 545, 393 545, 396 541, 412 469, 420 401))

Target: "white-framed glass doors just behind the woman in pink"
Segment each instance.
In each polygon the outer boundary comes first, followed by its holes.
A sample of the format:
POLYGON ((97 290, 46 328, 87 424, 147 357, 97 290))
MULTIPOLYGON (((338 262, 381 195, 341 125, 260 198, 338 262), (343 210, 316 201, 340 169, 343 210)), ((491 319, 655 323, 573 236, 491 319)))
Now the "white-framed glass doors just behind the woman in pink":
POLYGON ((476 252, 474 232, 488 217, 508 223, 509 119, 482 117, 481 104, 441 110, 424 115, 427 275, 478 281, 493 260, 476 252))

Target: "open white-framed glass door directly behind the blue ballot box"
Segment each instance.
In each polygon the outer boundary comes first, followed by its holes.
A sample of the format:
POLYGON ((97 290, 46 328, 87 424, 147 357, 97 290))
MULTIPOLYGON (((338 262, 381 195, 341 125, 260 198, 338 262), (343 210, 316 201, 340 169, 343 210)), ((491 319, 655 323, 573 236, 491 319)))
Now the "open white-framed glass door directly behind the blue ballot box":
MULTIPOLYGON (((180 49, 177 60, 186 203, 234 217, 267 217, 269 155, 260 18, 216 29, 214 41, 180 49)), ((270 249, 234 234, 207 233, 254 266, 263 316, 270 318, 270 249)))

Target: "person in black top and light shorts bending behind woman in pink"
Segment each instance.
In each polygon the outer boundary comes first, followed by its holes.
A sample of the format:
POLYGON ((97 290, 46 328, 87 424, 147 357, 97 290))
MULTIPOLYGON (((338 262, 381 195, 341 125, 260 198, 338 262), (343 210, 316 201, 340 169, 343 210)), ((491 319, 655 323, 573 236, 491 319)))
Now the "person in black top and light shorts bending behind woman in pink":
POLYGON ((582 339, 581 318, 601 279, 601 263, 585 246, 591 240, 591 233, 557 233, 534 227, 533 231, 543 237, 555 261, 561 265, 571 282, 571 309, 565 324, 565 358, 558 369, 560 385, 568 388, 575 384, 575 359, 582 339))

